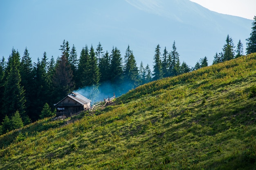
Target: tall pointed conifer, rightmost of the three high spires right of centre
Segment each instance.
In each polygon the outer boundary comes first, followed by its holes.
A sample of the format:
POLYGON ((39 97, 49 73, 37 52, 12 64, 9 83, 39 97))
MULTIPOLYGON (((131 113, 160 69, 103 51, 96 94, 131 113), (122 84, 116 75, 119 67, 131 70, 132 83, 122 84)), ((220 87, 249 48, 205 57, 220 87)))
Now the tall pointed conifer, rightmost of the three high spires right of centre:
MULTIPOLYGON (((173 42, 173 50, 169 54, 168 63, 169 65, 169 76, 178 75, 178 70, 175 70, 175 65, 177 65, 177 60, 179 59, 179 53, 177 52, 177 48, 175 46, 175 41, 173 42)), ((176 66, 177 68, 177 66, 176 66)))

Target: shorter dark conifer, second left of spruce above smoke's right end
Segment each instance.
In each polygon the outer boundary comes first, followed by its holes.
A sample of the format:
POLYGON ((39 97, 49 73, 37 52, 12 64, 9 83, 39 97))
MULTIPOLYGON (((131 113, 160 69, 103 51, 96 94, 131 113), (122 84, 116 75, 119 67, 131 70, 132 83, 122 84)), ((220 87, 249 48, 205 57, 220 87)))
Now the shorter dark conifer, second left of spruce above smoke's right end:
POLYGON ((110 81, 110 56, 108 51, 99 59, 100 82, 110 81))

